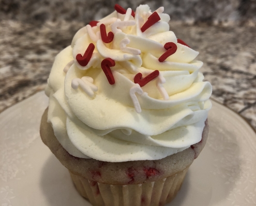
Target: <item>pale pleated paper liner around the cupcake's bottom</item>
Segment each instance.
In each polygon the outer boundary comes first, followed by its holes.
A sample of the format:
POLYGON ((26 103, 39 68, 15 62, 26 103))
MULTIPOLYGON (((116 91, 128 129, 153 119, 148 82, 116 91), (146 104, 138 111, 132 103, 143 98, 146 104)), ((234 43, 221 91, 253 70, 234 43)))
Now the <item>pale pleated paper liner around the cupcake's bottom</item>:
POLYGON ((187 171, 188 168, 155 182, 130 185, 103 184, 69 173, 80 195, 94 206, 161 206, 176 196, 187 171))

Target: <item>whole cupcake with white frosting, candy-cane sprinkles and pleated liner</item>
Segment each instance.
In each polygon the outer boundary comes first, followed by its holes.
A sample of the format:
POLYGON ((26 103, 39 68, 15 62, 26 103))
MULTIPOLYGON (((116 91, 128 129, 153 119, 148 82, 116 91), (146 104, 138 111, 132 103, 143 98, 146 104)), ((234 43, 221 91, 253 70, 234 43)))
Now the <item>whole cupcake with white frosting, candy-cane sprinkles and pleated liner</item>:
POLYGON ((212 86, 163 7, 115 11, 54 61, 40 134, 93 205, 164 205, 208 135, 212 86))

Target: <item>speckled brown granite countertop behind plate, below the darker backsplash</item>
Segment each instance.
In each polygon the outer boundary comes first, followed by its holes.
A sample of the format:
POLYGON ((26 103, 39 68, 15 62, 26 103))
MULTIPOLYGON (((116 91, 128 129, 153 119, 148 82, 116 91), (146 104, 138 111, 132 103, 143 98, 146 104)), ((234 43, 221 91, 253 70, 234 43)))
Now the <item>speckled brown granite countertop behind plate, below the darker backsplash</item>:
MULTIPOLYGON (((54 57, 83 23, 42 25, 0 21, 0 112, 42 90, 54 57)), ((204 62, 212 98, 244 116, 256 129, 256 27, 171 22, 171 30, 204 62)))

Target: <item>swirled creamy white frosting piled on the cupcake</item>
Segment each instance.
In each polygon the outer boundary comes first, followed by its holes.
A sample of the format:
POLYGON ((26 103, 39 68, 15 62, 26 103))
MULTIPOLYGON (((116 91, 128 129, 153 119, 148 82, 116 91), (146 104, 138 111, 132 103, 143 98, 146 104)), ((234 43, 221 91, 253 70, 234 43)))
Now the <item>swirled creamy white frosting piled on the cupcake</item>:
POLYGON ((177 43, 169 31, 170 17, 162 11, 157 10, 161 20, 145 32, 140 28, 152 14, 147 5, 137 8, 135 18, 130 9, 127 14, 114 11, 100 21, 107 33, 115 27, 111 43, 99 38, 98 23, 87 26, 91 34, 86 27, 80 29, 71 46, 56 56, 46 88, 48 122, 71 155, 107 162, 156 160, 201 141, 212 107, 212 85, 203 82, 199 72, 203 63, 194 60, 199 53, 177 43), (124 20, 128 23, 118 23, 124 20), (175 43, 177 51, 161 63, 158 58, 166 52, 167 42, 175 43), (94 53, 81 66, 76 56, 83 55, 90 43, 95 45, 94 53), (115 61, 113 85, 100 66, 105 58, 115 61), (130 89, 138 85, 134 76, 145 77, 155 70, 160 76, 142 87, 140 94, 134 93, 141 108, 137 113, 130 96, 130 89))

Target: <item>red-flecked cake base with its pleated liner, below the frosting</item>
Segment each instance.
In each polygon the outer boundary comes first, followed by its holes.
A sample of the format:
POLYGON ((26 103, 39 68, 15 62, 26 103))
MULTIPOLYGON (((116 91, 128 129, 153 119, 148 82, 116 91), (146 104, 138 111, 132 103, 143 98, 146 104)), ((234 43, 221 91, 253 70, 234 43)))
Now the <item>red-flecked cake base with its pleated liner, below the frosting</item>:
POLYGON ((102 162, 70 155, 58 142, 47 112, 40 135, 57 159, 68 168, 78 192, 94 206, 164 205, 177 194, 189 166, 202 151, 208 135, 207 120, 202 140, 160 160, 102 162))

